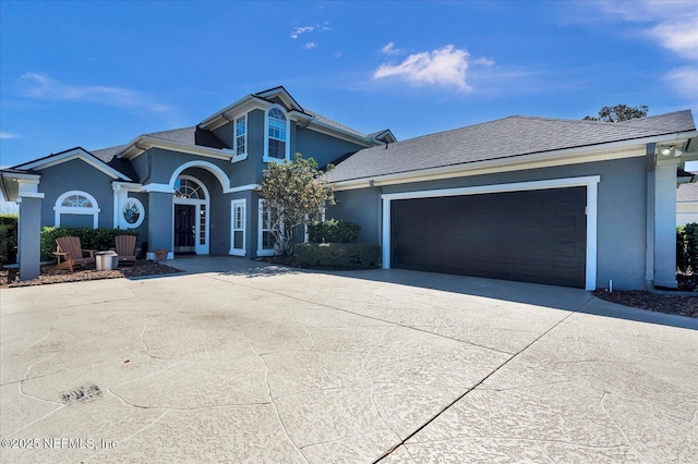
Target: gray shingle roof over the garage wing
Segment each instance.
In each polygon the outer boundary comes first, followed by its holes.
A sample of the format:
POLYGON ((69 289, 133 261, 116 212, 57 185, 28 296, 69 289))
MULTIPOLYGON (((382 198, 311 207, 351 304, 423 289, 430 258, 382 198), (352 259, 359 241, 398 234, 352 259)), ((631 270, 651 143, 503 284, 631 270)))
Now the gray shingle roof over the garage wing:
POLYGON ((689 110, 623 123, 514 115, 365 148, 329 173, 332 182, 466 164, 696 129, 689 110))

